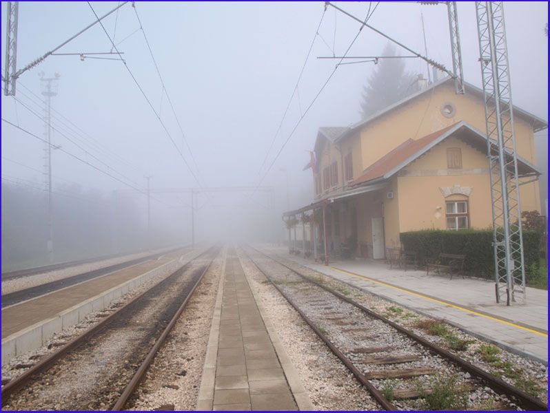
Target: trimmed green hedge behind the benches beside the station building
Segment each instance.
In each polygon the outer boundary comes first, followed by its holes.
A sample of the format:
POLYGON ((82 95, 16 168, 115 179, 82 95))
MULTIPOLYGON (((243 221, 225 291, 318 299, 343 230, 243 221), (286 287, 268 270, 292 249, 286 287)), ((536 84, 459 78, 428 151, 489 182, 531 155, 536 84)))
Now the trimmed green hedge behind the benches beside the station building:
MULTIPOLYGON (((400 233, 405 251, 415 251, 418 264, 424 266, 427 258, 439 253, 465 254, 465 273, 475 277, 494 278, 493 231, 466 229, 460 231, 422 230, 400 233)), ((523 230, 523 255, 526 276, 529 279, 538 268, 542 236, 537 231, 523 230)))

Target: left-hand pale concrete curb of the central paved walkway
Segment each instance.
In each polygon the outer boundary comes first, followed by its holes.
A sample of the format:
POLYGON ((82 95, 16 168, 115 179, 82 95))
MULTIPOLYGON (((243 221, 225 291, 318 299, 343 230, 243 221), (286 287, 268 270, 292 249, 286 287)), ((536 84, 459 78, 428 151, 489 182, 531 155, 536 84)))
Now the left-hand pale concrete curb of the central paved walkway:
POLYGON ((201 376, 201 387, 198 390, 195 410, 212 410, 214 404, 214 382, 216 381, 216 359, 218 357, 218 339, 220 336, 221 304, 223 299, 223 282, 225 280, 225 262, 227 260, 227 246, 223 250, 223 264, 221 266, 218 295, 214 304, 212 326, 206 347, 206 356, 201 376))

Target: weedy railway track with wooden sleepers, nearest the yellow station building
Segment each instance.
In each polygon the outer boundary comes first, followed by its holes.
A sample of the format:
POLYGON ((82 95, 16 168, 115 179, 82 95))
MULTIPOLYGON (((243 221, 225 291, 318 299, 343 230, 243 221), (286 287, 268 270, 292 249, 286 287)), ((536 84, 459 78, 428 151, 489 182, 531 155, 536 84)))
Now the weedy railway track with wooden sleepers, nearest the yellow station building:
POLYGON ((495 397, 495 410, 547 410, 539 399, 374 313, 320 278, 252 249, 254 257, 245 251, 247 258, 383 409, 423 410, 445 398, 454 403, 451 407, 466 409, 474 407, 470 399, 495 397))

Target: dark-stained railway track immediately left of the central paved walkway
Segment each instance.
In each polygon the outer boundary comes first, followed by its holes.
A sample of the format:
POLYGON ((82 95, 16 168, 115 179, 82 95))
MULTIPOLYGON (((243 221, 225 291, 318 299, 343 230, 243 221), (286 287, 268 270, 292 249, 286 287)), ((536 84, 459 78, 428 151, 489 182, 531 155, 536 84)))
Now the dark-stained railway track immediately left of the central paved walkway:
POLYGON ((187 262, 3 386, 3 409, 121 410, 218 252, 187 262))

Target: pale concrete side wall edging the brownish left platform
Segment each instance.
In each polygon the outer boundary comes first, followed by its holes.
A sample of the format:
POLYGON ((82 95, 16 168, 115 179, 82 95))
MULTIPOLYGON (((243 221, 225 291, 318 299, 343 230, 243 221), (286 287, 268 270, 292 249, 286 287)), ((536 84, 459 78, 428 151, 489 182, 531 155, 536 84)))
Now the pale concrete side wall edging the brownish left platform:
POLYGON ((114 286, 95 297, 67 308, 55 317, 39 321, 37 324, 33 324, 2 339, 2 365, 8 363, 15 356, 40 348, 54 333, 79 323, 92 311, 103 310, 115 299, 134 290, 153 277, 173 273, 177 268, 183 266, 183 257, 190 255, 192 252, 183 254, 181 257, 147 271, 145 274, 138 275, 119 286, 114 286))

